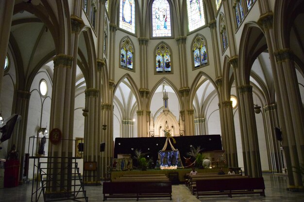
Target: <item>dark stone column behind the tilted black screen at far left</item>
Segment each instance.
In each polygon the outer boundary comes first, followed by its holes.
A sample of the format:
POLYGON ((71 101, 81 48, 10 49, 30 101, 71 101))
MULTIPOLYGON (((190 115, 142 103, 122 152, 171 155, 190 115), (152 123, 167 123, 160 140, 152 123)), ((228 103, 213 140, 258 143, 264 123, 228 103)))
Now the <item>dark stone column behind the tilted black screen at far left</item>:
MULTIPOLYGON (((3 68, 2 68, 3 69, 3 68)), ((29 91, 17 90, 17 96, 14 99, 16 105, 14 106, 14 113, 21 115, 21 120, 15 125, 12 137, 9 140, 8 152, 11 150, 12 146, 15 144, 17 151, 19 151, 18 159, 20 161, 19 169, 19 182, 22 183, 23 174, 23 156, 25 150, 26 141, 26 130, 29 114, 29 104, 30 104, 31 93, 29 91)))

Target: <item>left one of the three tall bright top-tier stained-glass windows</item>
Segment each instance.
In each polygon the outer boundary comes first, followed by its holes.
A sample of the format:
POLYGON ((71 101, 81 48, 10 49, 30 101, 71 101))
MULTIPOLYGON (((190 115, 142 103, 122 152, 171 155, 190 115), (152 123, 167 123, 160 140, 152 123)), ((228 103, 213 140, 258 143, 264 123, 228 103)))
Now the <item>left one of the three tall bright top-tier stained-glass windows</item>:
POLYGON ((119 28, 135 33, 134 0, 120 0, 119 28))

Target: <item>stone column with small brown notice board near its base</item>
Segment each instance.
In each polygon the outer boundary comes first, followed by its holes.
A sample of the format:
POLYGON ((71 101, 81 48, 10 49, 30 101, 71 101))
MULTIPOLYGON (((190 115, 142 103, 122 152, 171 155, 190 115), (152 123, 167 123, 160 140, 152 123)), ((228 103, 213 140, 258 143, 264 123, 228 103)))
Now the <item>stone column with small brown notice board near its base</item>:
MULTIPOLYGON (((100 143, 101 136, 98 133, 98 89, 87 88, 85 90, 85 109, 87 109, 87 116, 85 116, 85 131, 84 131, 84 162, 96 161, 100 168, 100 143)), ((101 173, 97 171, 84 171, 84 183, 96 184, 100 183, 101 173), (97 180, 93 175, 97 175, 97 180)))

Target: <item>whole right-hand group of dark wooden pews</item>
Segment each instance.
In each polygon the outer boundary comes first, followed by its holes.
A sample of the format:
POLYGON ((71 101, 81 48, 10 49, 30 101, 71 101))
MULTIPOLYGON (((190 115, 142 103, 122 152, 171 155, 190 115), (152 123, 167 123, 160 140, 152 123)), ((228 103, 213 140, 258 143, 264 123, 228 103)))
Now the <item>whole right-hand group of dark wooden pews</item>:
POLYGON ((264 179, 250 178, 241 174, 219 175, 217 173, 198 173, 186 175, 186 186, 191 193, 199 196, 233 194, 260 194, 265 196, 264 179))

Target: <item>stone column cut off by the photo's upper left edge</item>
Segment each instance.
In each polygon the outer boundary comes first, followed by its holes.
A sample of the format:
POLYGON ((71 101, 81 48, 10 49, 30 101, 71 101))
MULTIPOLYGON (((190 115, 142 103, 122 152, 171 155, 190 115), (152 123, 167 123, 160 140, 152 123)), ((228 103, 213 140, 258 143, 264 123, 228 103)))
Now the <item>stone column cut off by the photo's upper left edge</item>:
MULTIPOLYGON (((7 54, 7 46, 10 38, 12 17, 15 0, 0 1, 0 89, 2 88, 2 79, 4 74, 4 63, 7 54)), ((0 92, 1 98, 1 92, 0 92)))

